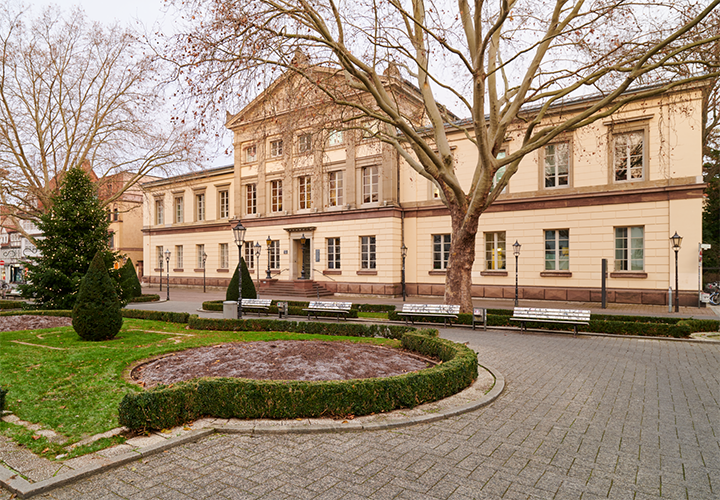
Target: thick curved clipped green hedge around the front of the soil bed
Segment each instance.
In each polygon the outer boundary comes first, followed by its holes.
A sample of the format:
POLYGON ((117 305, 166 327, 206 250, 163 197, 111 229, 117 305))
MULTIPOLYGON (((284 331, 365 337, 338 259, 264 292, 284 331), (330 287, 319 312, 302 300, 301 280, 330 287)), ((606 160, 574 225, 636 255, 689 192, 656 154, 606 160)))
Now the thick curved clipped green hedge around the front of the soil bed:
POLYGON ((403 335, 402 345, 442 363, 395 377, 343 381, 198 379, 126 394, 120 402, 119 422, 133 430, 149 430, 205 415, 274 419, 368 415, 437 401, 477 378, 477 356, 464 345, 417 333, 403 335))

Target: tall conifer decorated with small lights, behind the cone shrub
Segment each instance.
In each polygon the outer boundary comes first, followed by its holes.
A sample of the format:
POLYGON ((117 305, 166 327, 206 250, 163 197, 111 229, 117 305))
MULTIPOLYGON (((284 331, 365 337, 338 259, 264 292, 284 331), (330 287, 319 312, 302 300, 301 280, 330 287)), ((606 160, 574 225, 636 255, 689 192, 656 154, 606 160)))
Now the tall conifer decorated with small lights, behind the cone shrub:
POLYGON ((40 257, 26 264, 28 284, 23 297, 44 309, 72 309, 80 281, 100 252, 106 271, 116 258, 108 248, 110 220, 90 177, 80 168, 68 171, 50 210, 37 223, 40 257))

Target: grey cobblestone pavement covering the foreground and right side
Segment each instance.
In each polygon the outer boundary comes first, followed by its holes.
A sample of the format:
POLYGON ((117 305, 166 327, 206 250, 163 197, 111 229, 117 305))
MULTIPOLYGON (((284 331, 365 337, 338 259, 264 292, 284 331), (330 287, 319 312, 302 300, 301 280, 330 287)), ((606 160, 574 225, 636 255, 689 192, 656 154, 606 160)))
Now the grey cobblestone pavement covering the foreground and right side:
POLYGON ((505 375, 495 403, 394 431, 214 435, 36 498, 720 497, 718 344, 443 336, 505 375))

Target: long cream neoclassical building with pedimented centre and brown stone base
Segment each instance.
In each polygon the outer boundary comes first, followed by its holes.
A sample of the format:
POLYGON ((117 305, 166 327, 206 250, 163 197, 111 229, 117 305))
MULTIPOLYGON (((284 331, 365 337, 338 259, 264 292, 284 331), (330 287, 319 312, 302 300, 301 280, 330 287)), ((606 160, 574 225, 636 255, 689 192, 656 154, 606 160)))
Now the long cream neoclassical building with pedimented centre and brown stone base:
MULTIPOLYGON (((396 90, 408 109, 419 106, 412 87, 396 90)), ((599 301, 607 259, 610 302, 664 304, 677 231, 682 303, 696 304, 702 95, 694 87, 637 102, 526 156, 480 218, 473 295, 514 296, 517 241, 520 298, 599 301)), ((145 279, 157 282, 169 249, 171 283, 202 285, 206 254, 208 285, 226 285, 238 261, 231 226, 241 219, 243 255, 266 295, 308 283, 399 295, 403 245, 408 293, 442 295, 450 217, 433 186, 392 147, 366 131, 338 130, 322 109, 298 110, 290 96, 276 82, 228 117, 234 165, 143 185, 145 279)), ((568 102, 557 114, 592 102, 568 102)), ((523 133, 518 122, 505 152, 523 133)), ((450 140, 469 183, 474 146, 459 132, 450 140)))

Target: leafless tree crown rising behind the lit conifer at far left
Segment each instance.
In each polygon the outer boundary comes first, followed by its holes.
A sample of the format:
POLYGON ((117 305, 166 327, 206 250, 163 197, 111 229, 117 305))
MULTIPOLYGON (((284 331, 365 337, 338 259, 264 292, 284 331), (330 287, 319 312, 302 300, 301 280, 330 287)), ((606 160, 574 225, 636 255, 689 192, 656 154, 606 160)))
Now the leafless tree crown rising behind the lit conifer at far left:
POLYGON ((0 209, 17 228, 18 218, 51 206, 73 167, 92 166, 101 183, 132 172, 110 203, 153 169, 187 158, 182 131, 162 127, 170 116, 162 118, 157 59, 133 33, 90 24, 80 10, 28 18, 2 2, 0 209))

